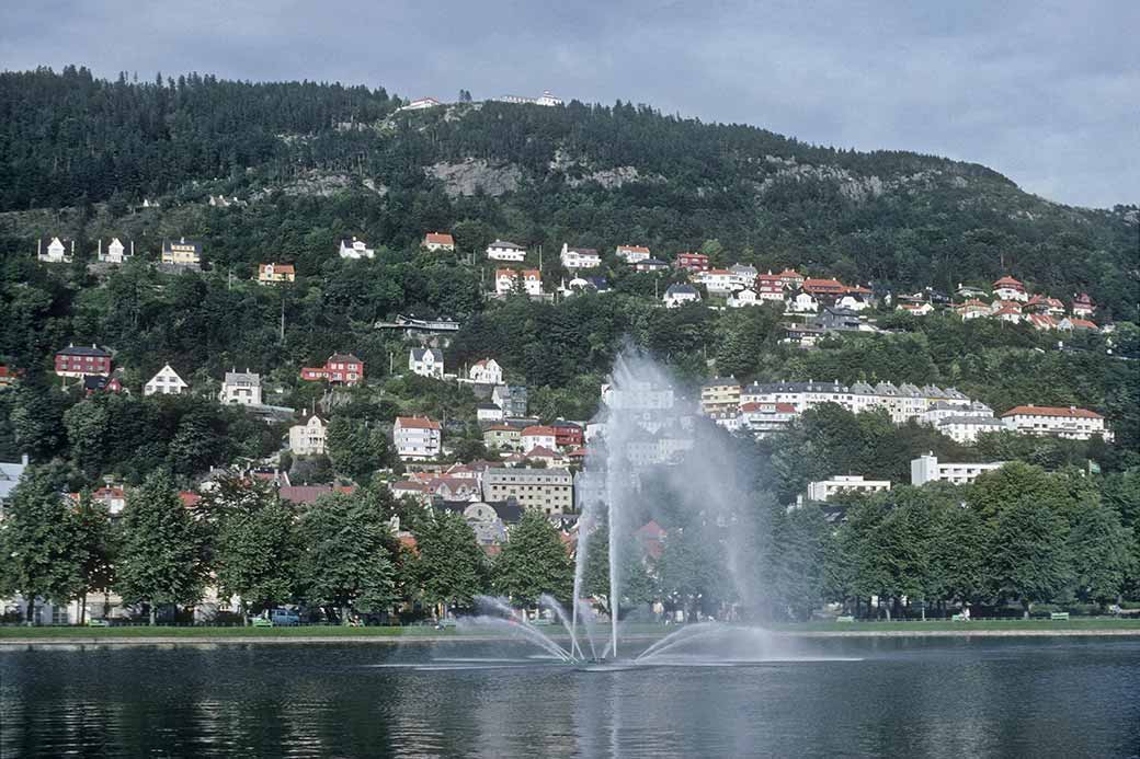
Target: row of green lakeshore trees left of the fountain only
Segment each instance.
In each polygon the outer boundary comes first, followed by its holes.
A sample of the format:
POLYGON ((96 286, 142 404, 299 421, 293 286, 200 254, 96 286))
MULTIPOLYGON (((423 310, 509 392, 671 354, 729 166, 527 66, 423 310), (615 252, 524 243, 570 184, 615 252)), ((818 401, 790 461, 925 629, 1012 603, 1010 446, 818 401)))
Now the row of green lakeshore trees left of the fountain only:
POLYGON ((534 605, 544 593, 568 598, 573 570, 557 530, 528 514, 495 561, 458 515, 404 508, 415 549, 390 528, 400 509, 383 485, 320 498, 280 500, 256 482, 223 479, 193 507, 156 472, 129 491, 112 519, 82 493, 62 496, 50 468, 32 470, 6 511, 0 591, 21 594, 32 621, 36 597, 64 603, 111 593, 145 610, 241 596, 249 615, 303 604, 327 620, 412 609, 470 607, 482 593, 534 605))

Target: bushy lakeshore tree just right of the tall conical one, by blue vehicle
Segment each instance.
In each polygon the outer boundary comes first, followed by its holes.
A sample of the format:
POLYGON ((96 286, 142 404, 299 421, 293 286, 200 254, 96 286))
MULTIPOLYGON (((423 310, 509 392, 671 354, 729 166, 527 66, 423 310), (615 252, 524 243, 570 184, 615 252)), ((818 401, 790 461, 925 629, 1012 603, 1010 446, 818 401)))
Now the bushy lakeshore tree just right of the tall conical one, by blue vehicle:
POLYGON ((235 487, 241 491, 228 499, 219 517, 213 564, 218 589, 222 596, 241 597, 249 623, 251 612, 293 597, 301 549, 290 504, 258 485, 235 487))

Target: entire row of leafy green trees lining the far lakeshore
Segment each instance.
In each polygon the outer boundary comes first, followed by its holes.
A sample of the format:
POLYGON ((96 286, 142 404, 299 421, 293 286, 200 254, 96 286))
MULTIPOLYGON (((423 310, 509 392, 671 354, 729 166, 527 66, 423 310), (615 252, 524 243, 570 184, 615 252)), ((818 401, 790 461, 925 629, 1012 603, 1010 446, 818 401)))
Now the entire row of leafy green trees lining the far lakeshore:
MULTIPOLYGON (((660 602, 689 618, 806 619, 836 602, 889 618, 1012 603, 1028 615, 1034 604, 1104 609, 1140 595, 1137 472, 1099 478, 1013 463, 968 487, 902 485, 793 509, 758 497, 716 517, 666 500, 654 506, 665 530, 656 549, 618 538, 622 610, 660 602)), ((51 471, 38 468, 5 525, 5 593, 59 603, 114 591, 152 622, 164 606, 202 599, 207 585, 221 599, 241 596, 246 615, 301 603, 348 620, 417 605, 472 609, 481 594, 520 606, 543 594, 569 601, 573 580, 567 545, 544 516, 523 516, 490 560, 461 516, 393 501, 382 484, 298 508, 255 483, 222 480, 187 508, 156 473, 112 521, 85 495, 62 497, 51 471), (393 515, 412 524, 414 548, 393 536, 393 515)), ((584 578, 606 612, 611 539, 604 524, 589 536, 584 578)))

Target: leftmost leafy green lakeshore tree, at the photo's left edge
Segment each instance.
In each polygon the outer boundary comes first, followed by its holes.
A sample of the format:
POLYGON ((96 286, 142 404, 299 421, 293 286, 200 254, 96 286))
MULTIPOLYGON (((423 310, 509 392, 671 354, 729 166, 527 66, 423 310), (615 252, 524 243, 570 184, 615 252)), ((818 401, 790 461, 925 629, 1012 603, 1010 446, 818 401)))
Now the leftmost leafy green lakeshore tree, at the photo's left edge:
POLYGON ((28 625, 38 597, 66 601, 81 585, 72 507, 49 473, 35 467, 24 474, 5 509, 0 579, 8 591, 24 596, 28 625))

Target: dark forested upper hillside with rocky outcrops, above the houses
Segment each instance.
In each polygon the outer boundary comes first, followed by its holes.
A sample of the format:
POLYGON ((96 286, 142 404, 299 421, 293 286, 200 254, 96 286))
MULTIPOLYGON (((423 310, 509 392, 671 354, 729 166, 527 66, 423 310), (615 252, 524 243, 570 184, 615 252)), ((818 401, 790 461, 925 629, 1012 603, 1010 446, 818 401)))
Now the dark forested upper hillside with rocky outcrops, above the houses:
MULTIPOLYGON (((0 250, 35 235, 135 234, 128 211, 142 198, 185 207, 223 193, 249 202, 230 231, 250 244, 213 248, 227 264, 272 251, 303 267, 335 236, 400 250, 449 229, 469 252, 503 237, 547 251, 648 244, 669 258, 718 240, 723 263, 846 281, 945 289, 1008 272, 1057 296, 1086 289, 1119 318, 1140 301, 1135 206, 1062 206, 976 164, 816 147, 621 103, 397 113, 402 104, 310 82, 0 74, 0 211, 83 210, 66 229, 55 215, 6 214, 0 250), (89 226, 101 202, 107 229, 89 226)), ((166 214, 148 231, 210 242, 194 226, 166 214)))

